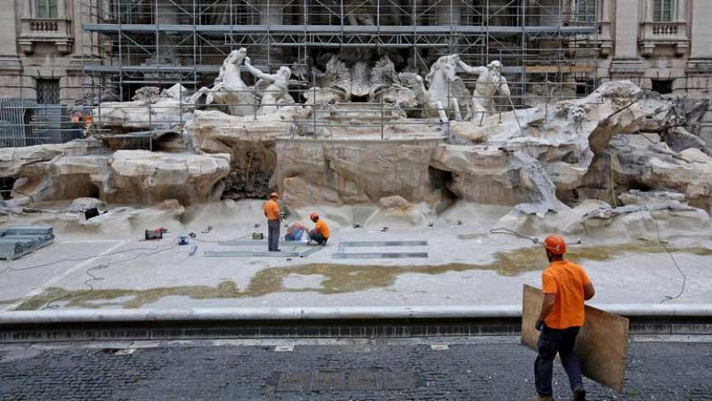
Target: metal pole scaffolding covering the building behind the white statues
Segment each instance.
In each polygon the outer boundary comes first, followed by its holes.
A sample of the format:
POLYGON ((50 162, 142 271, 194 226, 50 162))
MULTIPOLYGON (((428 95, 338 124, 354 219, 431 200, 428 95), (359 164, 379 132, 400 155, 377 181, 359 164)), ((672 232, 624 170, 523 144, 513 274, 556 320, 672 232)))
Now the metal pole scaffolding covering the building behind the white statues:
POLYGON ((399 71, 422 76, 451 53, 473 66, 501 60, 517 106, 597 84, 592 0, 81 1, 83 88, 93 103, 107 93, 130 100, 145 85, 198 90, 239 47, 265 72, 292 67, 303 81, 295 99, 327 54, 388 54, 399 71))

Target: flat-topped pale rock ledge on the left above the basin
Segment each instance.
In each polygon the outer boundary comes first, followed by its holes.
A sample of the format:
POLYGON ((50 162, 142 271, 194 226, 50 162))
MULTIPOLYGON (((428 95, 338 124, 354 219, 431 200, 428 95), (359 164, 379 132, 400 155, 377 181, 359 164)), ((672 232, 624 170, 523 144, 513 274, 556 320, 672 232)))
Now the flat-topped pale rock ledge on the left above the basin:
POLYGON ((120 150, 101 155, 94 140, 0 150, 0 177, 12 179, 6 205, 99 198, 107 203, 183 205, 217 200, 230 156, 120 150))

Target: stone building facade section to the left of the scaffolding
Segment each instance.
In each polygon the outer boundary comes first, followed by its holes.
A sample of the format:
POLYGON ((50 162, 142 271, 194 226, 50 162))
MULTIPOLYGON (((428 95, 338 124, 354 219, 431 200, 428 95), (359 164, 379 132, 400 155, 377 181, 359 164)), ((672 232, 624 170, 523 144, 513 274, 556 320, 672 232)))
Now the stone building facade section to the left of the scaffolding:
POLYGON ((82 98, 81 4, 4 0, 0 97, 74 104, 82 98))

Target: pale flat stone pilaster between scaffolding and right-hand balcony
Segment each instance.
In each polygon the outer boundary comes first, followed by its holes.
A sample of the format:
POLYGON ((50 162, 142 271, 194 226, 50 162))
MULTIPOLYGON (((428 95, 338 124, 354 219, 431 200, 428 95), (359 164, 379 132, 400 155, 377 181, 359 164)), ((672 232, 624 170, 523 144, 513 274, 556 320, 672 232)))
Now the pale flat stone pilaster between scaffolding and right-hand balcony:
POLYGON ((611 63, 613 79, 641 77, 645 73, 638 55, 638 32, 640 31, 640 2, 616 0, 615 2, 615 49, 611 63))

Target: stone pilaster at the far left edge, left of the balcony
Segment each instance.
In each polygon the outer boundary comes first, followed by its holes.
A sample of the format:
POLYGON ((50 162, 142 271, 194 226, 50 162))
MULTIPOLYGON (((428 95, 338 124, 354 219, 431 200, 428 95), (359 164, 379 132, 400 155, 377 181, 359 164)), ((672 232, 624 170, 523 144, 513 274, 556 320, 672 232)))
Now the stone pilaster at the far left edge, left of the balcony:
MULTIPOLYGON (((28 1, 28 0, 25 0, 28 1)), ((4 2, 0 12, 0 96, 20 97, 20 55, 17 52, 15 0, 4 2)))

